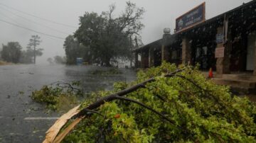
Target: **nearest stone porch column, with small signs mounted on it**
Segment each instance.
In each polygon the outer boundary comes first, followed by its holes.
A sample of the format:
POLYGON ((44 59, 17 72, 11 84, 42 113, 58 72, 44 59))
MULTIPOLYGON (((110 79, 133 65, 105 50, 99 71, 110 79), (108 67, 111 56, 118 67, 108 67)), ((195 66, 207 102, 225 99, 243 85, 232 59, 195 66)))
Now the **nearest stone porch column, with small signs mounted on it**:
MULTIPOLYGON (((217 34, 223 34, 223 26, 217 28, 217 34)), ((230 33, 228 34, 228 41, 223 44, 217 43, 216 48, 224 47, 224 57, 218 57, 216 61, 217 74, 230 74, 230 50, 232 42, 230 40, 230 33)))

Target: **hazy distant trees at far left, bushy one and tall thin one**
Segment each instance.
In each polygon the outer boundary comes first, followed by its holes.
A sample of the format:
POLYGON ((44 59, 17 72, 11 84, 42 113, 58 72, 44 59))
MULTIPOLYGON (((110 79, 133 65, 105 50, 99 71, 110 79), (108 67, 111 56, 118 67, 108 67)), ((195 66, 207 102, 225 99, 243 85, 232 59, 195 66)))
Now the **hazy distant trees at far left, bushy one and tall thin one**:
POLYGON ((43 55, 42 48, 36 48, 41 40, 38 35, 32 35, 26 50, 22 50, 18 42, 8 42, 2 45, 1 60, 12 63, 36 64, 36 57, 43 55))

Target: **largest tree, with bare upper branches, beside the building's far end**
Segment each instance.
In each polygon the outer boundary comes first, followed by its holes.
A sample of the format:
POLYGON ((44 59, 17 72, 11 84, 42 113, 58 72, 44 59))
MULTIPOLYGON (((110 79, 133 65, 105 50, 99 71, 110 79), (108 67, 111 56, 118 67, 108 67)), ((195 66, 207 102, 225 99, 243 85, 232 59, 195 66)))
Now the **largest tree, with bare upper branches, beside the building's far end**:
POLYGON ((90 47, 93 62, 110 66, 111 59, 129 58, 132 55, 131 45, 135 36, 144 27, 142 15, 144 8, 128 1, 120 16, 114 18, 115 6, 109 11, 97 13, 86 12, 80 17, 80 27, 75 32, 75 38, 83 45, 90 47), (131 38, 130 38, 131 37, 131 38))

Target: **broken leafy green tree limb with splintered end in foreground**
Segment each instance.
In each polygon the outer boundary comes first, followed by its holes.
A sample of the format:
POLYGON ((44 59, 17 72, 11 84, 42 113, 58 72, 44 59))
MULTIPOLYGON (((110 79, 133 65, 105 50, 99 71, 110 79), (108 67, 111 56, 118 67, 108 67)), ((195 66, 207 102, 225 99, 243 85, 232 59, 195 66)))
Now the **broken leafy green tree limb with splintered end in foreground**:
POLYGON ((255 142, 255 107, 193 67, 164 63, 92 93, 44 142, 255 142))

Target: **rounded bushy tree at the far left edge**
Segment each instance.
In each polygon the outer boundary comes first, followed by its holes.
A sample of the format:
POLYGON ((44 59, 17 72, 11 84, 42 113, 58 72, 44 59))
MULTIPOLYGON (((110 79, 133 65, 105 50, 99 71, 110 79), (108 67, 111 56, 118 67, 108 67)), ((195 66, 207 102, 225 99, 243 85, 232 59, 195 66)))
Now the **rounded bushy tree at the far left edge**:
POLYGON ((3 45, 1 51, 1 58, 6 62, 18 63, 21 57, 21 45, 18 42, 8 42, 7 45, 3 45))

